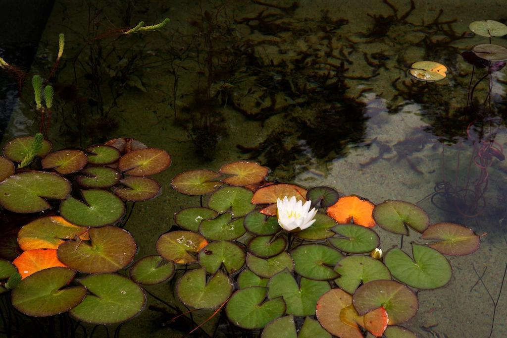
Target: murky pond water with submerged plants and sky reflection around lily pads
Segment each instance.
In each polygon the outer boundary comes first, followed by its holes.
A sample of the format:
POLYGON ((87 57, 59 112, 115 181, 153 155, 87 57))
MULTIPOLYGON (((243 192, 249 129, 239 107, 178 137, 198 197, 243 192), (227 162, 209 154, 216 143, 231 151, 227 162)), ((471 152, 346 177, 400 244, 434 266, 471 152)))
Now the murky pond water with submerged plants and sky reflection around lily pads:
MULTIPOLYGON (((47 76, 65 33, 52 80, 54 148, 130 137, 170 153, 171 166, 156 176, 162 195, 137 204, 126 226, 136 257, 155 254, 174 213, 198 202, 171 189, 175 175, 256 160, 271 168, 272 180, 332 186, 375 204, 409 201, 432 222, 484 234, 474 254, 448 257, 451 281, 421 290, 418 314, 404 325, 421 337, 504 337, 507 77, 505 69, 490 76, 473 69, 461 52, 488 43, 470 22, 505 17, 501 1, 55 0, 23 71, 47 76), (115 35, 165 17, 171 21, 161 31, 115 35), (407 70, 419 60, 446 65, 447 78, 411 79, 407 70)), ((33 106, 25 81, 5 109, 12 115, 2 145, 39 130, 33 106)), ((406 238, 404 248, 417 238, 406 238)), ((384 235, 382 248, 398 241, 384 235)), ((174 301, 167 284, 148 290, 174 301)), ((120 336, 186 336, 187 328, 167 327, 160 308, 150 297, 120 336)), ((209 334, 216 320, 203 326, 209 334)))

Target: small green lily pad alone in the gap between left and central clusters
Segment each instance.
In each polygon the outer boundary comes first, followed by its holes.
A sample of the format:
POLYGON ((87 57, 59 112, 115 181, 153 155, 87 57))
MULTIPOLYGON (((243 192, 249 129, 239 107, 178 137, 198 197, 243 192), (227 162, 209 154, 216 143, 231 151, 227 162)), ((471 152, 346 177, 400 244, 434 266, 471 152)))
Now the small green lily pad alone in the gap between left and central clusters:
POLYGON ((174 275, 175 266, 158 255, 146 256, 134 263, 129 270, 130 279, 137 284, 155 285, 174 275))

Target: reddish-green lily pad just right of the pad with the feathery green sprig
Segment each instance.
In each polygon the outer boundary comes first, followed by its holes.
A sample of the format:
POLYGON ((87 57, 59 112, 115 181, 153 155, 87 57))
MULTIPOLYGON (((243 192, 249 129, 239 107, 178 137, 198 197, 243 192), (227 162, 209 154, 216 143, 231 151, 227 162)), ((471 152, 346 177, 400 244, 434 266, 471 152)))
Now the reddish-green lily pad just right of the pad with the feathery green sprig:
POLYGON ((62 175, 79 172, 88 158, 81 150, 64 149, 49 153, 42 159, 42 167, 45 169, 54 168, 62 175))

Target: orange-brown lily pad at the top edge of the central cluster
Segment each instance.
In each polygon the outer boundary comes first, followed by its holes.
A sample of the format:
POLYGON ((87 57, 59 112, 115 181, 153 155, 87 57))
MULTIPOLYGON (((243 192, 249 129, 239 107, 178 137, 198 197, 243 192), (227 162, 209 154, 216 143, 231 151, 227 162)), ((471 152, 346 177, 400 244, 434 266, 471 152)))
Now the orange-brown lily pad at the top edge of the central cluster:
POLYGON ((222 182, 242 187, 264 180, 269 173, 269 168, 257 162, 237 161, 223 165, 220 168, 220 173, 232 175, 231 177, 223 179, 222 182))

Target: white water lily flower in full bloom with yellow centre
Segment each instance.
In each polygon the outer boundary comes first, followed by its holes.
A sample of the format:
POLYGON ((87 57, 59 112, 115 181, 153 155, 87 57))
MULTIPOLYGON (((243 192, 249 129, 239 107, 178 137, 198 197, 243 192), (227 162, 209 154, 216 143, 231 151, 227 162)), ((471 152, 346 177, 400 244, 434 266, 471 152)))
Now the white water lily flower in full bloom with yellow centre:
POLYGON ((276 201, 278 224, 285 231, 306 229, 315 222, 313 218, 317 214, 315 208, 310 210, 310 204, 309 200, 303 204, 302 201, 296 200, 296 196, 292 196, 291 199, 285 196, 283 200, 278 198, 276 201))

